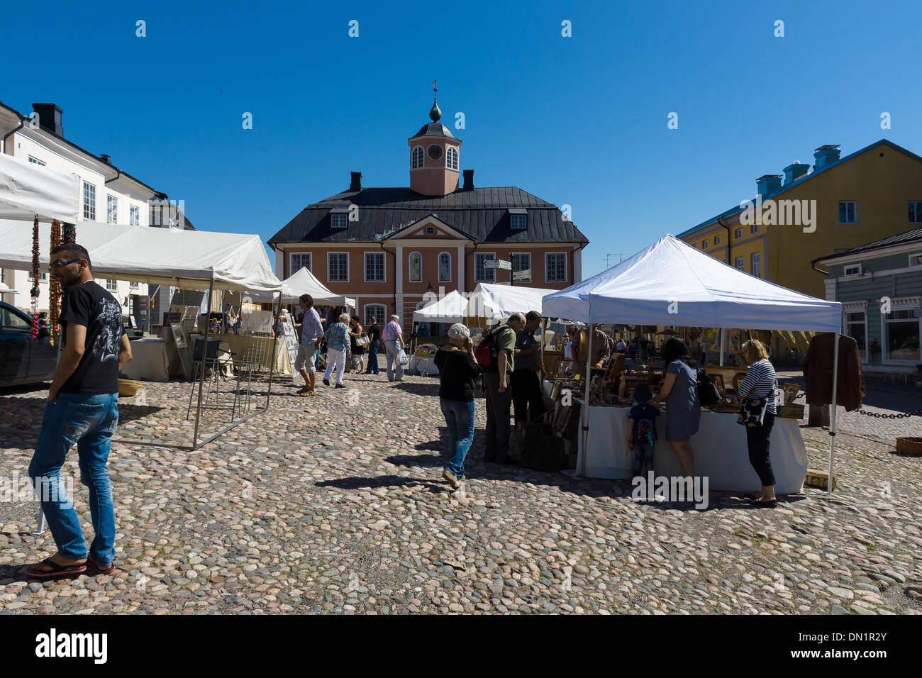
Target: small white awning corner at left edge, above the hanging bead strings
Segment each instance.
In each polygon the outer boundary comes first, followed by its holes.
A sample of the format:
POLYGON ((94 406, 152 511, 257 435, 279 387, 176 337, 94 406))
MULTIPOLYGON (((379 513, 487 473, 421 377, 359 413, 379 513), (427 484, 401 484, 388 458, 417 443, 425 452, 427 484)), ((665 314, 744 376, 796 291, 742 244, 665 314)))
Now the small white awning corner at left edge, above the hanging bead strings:
POLYGON ((0 219, 76 223, 79 208, 77 174, 0 153, 0 219))

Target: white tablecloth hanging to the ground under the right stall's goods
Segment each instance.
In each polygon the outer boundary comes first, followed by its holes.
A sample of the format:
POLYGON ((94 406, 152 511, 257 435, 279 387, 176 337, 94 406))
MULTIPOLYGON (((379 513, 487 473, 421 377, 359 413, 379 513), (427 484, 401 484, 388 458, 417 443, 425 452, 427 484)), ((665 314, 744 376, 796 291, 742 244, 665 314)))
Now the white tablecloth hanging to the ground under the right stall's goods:
MULTIPOLYGON (((588 445, 584 459, 587 478, 632 477, 633 452, 627 446, 628 412, 630 408, 590 407, 588 445)), ((666 441, 665 411, 656 417, 658 440, 654 447, 653 465, 657 476, 681 476, 679 459, 666 441)), ((585 424, 585 419, 584 419, 585 424)), ((746 430, 737 423, 737 415, 725 412, 702 412, 701 427, 691 436, 694 452, 694 473, 707 476, 709 489, 725 492, 755 492, 762 482, 749 461, 746 430)), ((775 492, 794 494, 803 488, 807 477, 807 449, 800 436, 796 419, 776 417, 772 428, 769 452, 774 470, 775 492)), ((580 436, 580 455, 583 455, 580 436)))

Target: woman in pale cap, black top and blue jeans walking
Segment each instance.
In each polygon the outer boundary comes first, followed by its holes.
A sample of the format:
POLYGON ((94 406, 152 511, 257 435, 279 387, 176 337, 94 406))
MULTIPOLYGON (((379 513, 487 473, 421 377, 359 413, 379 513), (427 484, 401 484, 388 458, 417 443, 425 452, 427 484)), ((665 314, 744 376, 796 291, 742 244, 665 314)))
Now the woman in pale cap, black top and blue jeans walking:
POLYGON ((480 366, 470 330, 461 323, 448 328, 448 343, 435 354, 439 368, 439 402, 448 427, 448 454, 442 477, 457 489, 465 480, 464 460, 474 442, 474 377, 480 366), (464 349, 464 351, 462 351, 464 349))

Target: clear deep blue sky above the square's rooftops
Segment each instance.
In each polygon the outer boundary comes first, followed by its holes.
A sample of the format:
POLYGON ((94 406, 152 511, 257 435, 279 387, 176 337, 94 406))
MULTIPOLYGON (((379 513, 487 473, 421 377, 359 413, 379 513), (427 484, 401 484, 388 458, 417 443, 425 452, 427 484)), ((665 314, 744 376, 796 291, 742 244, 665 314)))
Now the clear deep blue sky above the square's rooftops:
POLYGON ((350 171, 408 185, 433 78, 443 122, 465 113, 477 185, 572 206, 585 277, 822 144, 922 153, 915 2, 48 2, 7 18, 0 99, 57 103, 65 137, 183 199, 197 228, 264 240, 350 171))

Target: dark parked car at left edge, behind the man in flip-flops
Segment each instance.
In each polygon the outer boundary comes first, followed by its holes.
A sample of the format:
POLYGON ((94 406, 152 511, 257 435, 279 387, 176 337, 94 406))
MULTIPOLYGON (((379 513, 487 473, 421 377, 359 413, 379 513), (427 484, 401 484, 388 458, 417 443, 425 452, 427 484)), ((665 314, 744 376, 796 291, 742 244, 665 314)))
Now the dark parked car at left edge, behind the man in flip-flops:
POLYGON ((0 387, 51 381, 57 347, 47 333, 32 339, 32 319, 16 306, 0 302, 0 387))

